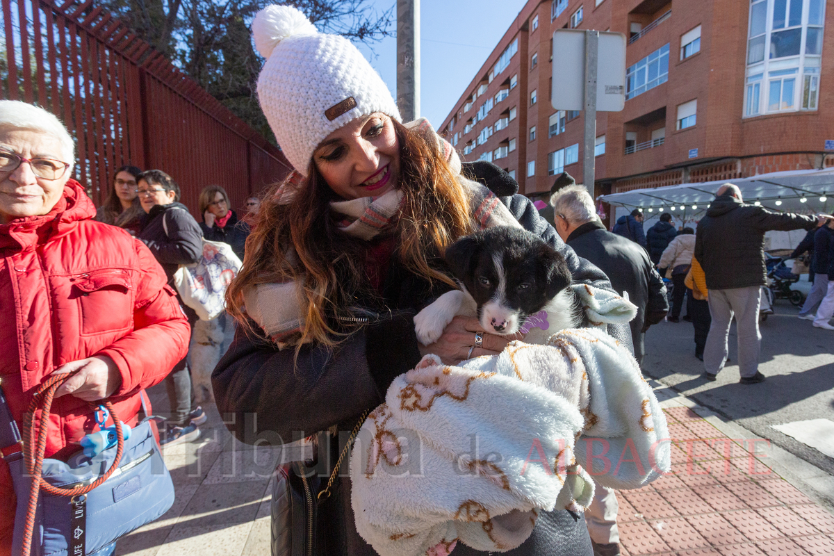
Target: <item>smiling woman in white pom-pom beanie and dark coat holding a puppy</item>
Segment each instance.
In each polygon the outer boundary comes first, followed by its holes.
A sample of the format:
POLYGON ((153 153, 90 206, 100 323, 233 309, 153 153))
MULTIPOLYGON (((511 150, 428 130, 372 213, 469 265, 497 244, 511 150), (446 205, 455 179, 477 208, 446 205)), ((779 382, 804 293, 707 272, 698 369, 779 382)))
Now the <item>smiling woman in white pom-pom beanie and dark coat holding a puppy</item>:
MULTIPOLYGON (((427 122, 401 123, 388 89, 349 41, 317 33, 289 7, 264 9, 253 29, 267 58, 261 107, 297 174, 264 198, 229 287, 229 313, 242 326, 213 382, 219 410, 236 414, 230 427, 239 438, 277 433, 290 442, 350 431, 422 354, 453 364, 499 353, 511 338, 483 333, 475 318, 456 317, 430 346, 414 333, 414 315, 455 287, 440 258, 445 248, 479 228, 517 220, 562 253, 575 281, 610 288, 527 198, 496 198, 461 174, 454 149, 427 122)), ((628 345, 627 329, 611 328, 628 345)), ((319 438, 319 459, 330 454, 325 473, 342 448, 338 438, 319 438)), ((316 553, 374 554, 354 527, 344 478, 319 504, 316 527, 316 553)), ((590 554, 584 518, 542 514, 510 553, 590 554)))

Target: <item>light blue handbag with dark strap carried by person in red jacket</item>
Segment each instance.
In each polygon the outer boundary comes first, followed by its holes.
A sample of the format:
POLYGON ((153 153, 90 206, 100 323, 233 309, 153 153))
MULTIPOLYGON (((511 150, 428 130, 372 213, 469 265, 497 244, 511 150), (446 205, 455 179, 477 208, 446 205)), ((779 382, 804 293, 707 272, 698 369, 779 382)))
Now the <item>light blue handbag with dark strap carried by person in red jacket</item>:
MULTIPOLYGON (((61 382, 63 380, 55 383, 55 388, 61 382)), ((48 394, 45 388, 38 393, 44 390, 48 394)), ((147 408, 145 393, 141 395, 143 408, 147 408)), ((43 414, 48 414, 51 398, 48 395, 48 403, 43 404, 41 418, 44 424, 47 420, 43 414)), ((109 403, 106 405, 110 406, 109 403)), ((112 406, 108 410, 112 415, 112 406)), ((8 463, 18 497, 13 535, 14 554, 23 553, 28 520, 32 522, 29 528, 31 556, 86 556, 103 548, 103 552, 107 552, 108 545, 116 539, 168 511, 174 499, 173 481, 163 462, 147 411, 145 415, 146 418, 133 428, 130 437, 123 440, 118 467, 113 469, 108 478, 88 493, 72 496, 48 493, 44 489, 48 487, 41 483, 37 506, 33 516, 27 519, 33 483, 33 475, 27 472, 25 462, 25 452, 29 449, 19 449, 22 446, 21 435, 6 398, 3 397, 3 391, 0 390, 0 447, 3 448, 3 459, 8 463)), ((37 454, 38 448, 30 449, 37 454)), ((117 457, 118 448, 117 444, 93 458, 79 452, 66 462, 43 458, 43 482, 52 487, 84 490, 98 483, 108 473, 117 457)), ((40 453, 43 454, 43 451, 40 453)))

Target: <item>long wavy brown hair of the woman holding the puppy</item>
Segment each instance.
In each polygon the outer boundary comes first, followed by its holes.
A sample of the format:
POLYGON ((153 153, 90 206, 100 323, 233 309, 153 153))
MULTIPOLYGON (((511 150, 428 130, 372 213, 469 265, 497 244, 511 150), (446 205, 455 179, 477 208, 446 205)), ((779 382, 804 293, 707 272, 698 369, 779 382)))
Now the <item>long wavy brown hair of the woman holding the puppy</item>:
MULTIPOLYGON (((394 256, 429 283, 455 283, 433 268, 430 259, 457 238, 474 231, 469 193, 449 164, 419 133, 394 121, 399 139, 399 188, 403 206, 394 223, 394 256)), ((340 334, 333 318, 344 316, 357 294, 375 296, 365 273, 366 243, 341 231, 330 213, 336 200, 314 163, 309 177, 290 175, 261 203, 246 240, 244 267, 226 292, 229 313, 249 327, 244 291, 259 283, 303 284, 307 313, 301 343, 333 346, 340 334)))

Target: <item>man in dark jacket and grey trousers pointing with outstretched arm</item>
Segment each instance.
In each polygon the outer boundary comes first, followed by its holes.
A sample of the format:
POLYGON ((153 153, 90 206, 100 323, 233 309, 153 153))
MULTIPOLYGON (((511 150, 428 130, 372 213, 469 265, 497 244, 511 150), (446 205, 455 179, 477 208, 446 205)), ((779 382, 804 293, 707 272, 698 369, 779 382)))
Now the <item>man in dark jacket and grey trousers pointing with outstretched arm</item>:
POLYGON ((718 189, 716 199, 698 223, 695 258, 701 263, 709 291, 712 323, 704 347, 704 378, 715 380, 727 357, 727 335, 735 316, 738 366, 742 384, 761 383, 759 372, 759 303, 766 284, 765 232, 810 230, 824 217, 774 213, 745 204, 732 183, 718 189))

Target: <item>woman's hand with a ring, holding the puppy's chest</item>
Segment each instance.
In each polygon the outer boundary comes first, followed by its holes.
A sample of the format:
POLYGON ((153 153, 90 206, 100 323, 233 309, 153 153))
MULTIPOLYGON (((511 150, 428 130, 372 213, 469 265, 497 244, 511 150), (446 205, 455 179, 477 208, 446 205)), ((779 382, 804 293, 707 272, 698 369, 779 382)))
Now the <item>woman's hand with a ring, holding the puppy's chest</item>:
POLYGON ((458 315, 446 326, 443 335, 435 343, 427 346, 420 344, 420 355, 434 353, 440 357, 443 363, 456 365, 465 359, 481 355, 497 355, 511 341, 524 338, 523 333, 515 333, 512 336, 498 336, 483 331, 484 328, 481 327, 477 318, 458 315), (484 342, 481 348, 473 349, 472 354, 469 355, 470 348, 475 345, 476 332, 483 334, 484 342))

